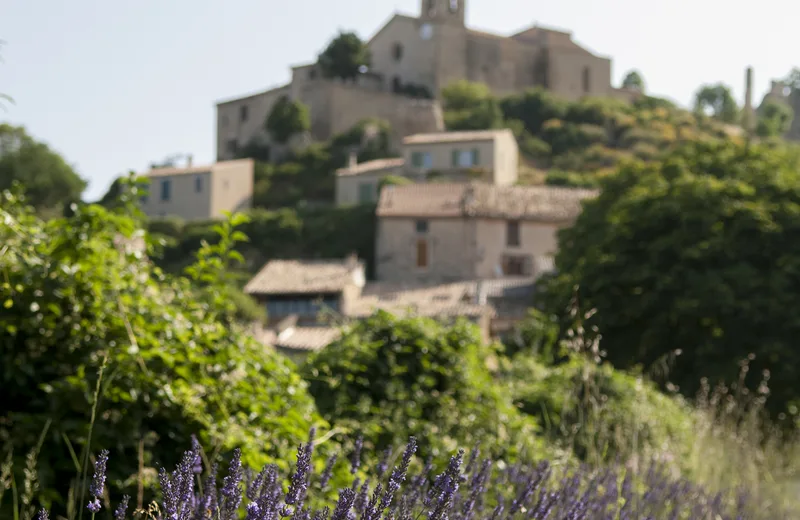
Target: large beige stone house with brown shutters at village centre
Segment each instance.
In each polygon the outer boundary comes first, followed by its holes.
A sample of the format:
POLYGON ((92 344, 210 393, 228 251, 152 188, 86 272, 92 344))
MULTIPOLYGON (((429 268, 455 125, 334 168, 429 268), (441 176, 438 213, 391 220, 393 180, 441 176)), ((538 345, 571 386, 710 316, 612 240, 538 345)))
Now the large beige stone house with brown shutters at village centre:
POLYGON ((558 230, 594 190, 486 183, 386 186, 377 207, 378 281, 537 278, 558 230))

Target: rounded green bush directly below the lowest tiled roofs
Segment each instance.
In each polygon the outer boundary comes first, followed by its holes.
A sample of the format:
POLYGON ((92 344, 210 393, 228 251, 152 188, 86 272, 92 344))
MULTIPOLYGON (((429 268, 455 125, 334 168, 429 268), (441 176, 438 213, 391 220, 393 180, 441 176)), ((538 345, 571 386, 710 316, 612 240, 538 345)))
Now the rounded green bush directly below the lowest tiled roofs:
POLYGON ((477 327, 445 327, 384 312, 364 320, 303 366, 320 413, 378 449, 410 434, 441 457, 480 441, 497 456, 535 455, 533 421, 514 409, 487 367, 477 327))

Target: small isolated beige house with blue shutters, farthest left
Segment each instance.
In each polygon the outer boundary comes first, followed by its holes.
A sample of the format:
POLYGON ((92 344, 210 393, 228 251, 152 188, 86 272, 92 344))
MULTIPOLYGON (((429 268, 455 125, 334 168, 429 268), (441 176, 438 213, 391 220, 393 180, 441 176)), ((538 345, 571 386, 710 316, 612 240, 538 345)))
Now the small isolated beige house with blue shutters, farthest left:
POLYGON ((148 217, 177 216, 186 220, 222 218, 253 204, 251 159, 208 166, 158 168, 144 173, 149 192, 140 200, 148 217))

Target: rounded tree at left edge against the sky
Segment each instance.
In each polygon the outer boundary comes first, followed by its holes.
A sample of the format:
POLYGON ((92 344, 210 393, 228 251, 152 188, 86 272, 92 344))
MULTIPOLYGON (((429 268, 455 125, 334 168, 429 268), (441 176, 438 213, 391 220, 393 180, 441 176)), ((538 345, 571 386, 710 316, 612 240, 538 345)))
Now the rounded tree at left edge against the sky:
POLYGON ((15 182, 38 211, 60 210, 81 198, 86 181, 61 155, 34 140, 23 127, 0 124, 0 191, 15 182))

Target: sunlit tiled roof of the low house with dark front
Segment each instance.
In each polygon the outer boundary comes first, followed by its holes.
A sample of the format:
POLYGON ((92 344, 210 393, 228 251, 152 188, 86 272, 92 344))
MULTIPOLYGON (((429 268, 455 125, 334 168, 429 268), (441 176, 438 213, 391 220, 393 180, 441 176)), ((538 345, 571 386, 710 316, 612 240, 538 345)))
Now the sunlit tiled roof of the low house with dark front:
POLYGON ((247 294, 320 294, 363 283, 364 264, 352 260, 271 260, 247 282, 247 294))

